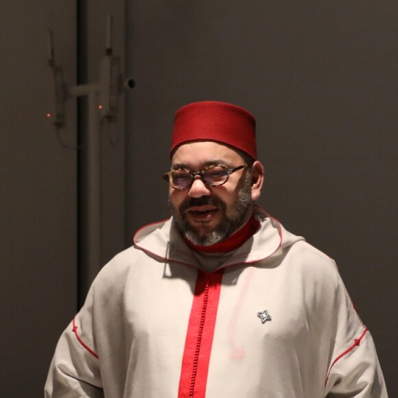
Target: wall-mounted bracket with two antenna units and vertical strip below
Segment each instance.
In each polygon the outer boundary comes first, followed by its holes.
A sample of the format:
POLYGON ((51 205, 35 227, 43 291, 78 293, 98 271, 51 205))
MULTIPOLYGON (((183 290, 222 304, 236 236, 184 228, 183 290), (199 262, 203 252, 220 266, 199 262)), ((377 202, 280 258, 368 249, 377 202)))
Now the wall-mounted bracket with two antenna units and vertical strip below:
MULTIPOLYGON (((86 235, 82 241, 86 247, 86 275, 90 283, 101 264, 101 137, 100 119, 114 120, 117 117, 121 90, 134 87, 132 79, 123 78, 120 73, 120 58, 112 51, 112 17, 107 19, 106 50, 100 61, 100 82, 66 86, 62 68, 56 65, 52 34, 49 32, 49 89, 50 106, 47 117, 57 127, 65 126, 65 100, 68 97, 89 97, 88 128, 85 139, 86 147, 86 202, 84 221, 86 235)), ((86 287, 87 288, 87 287, 86 287)))

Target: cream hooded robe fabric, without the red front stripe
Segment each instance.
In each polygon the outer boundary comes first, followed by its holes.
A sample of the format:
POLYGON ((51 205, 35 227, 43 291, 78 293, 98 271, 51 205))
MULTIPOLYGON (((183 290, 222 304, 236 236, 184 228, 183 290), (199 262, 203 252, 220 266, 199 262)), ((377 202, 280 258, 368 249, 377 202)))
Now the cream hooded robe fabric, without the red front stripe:
POLYGON ((178 397, 196 279, 213 268, 224 274, 206 398, 387 397, 333 260, 256 212, 259 231, 222 257, 194 254, 172 219, 141 229, 62 334, 45 397, 178 397))

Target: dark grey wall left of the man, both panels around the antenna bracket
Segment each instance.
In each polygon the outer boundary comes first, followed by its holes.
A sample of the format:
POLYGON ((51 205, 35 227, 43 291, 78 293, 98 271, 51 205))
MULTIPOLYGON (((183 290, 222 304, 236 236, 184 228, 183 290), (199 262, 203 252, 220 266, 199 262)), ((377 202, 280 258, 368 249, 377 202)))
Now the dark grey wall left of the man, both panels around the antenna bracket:
MULTIPOLYGON (((122 0, 16 0, 1 7, 2 398, 43 397, 56 342, 78 310, 78 292, 84 296, 90 282, 85 270, 86 108, 82 102, 78 110, 77 100, 69 97, 67 124, 58 132, 46 118, 47 29, 54 32, 65 84, 96 83, 108 14, 114 19, 114 54, 123 58, 122 0)), ((101 126, 104 264, 125 247, 123 96, 117 119, 103 120, 101 126)))

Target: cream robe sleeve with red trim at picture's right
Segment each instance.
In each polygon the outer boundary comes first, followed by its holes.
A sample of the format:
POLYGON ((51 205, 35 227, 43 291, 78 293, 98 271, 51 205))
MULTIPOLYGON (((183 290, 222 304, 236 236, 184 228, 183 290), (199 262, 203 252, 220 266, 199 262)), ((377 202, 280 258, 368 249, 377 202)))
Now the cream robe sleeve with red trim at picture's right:
POLYGON ((371 333, 360 320, 340 277, 335 325, 325 397, 388 398, 371 333))

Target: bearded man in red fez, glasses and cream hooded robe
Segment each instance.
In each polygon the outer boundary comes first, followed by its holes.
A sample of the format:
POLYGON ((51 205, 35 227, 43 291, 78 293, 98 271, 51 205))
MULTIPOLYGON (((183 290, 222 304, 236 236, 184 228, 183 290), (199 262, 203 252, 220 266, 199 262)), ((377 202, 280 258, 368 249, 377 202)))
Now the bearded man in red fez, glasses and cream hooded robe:
POLYGON ((333 261, 254 205, 254 117, 184 106, 171 156, 172 218, 98 274, 46 397, 387 397, 333 261))

